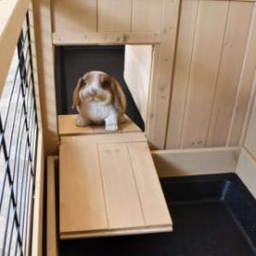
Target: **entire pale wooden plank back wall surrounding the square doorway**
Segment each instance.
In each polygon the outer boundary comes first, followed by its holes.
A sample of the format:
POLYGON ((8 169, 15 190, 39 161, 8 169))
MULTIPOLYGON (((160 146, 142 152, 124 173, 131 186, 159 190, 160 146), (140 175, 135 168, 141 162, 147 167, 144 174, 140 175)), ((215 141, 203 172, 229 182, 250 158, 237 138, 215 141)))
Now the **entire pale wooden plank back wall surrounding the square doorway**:
POLYGON ((43 113, 47 151, 58 146, 54 46, 78 44, 154 45, 148 101, 137 103, 143 105, 154 148, 240 144, 256 66, 254 1, 42 0, 34 5, 42 105, 49 106, 43 113))

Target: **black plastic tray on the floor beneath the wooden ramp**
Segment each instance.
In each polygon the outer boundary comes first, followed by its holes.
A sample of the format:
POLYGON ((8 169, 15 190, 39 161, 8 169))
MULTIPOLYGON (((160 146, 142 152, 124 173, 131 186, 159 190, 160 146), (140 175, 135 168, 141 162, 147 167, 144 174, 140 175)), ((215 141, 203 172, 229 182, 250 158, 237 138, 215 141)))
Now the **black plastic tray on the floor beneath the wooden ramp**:
POLYGON ((236 174, 161 184, 172 232, 59 241, 60 255, 256 255, 256 201, 236 174))

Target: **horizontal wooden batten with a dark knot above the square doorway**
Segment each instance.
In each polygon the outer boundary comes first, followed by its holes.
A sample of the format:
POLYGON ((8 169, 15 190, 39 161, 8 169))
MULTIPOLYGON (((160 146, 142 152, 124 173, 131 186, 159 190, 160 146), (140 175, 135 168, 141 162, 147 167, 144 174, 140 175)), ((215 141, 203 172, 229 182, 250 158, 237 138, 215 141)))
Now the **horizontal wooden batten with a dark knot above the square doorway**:
POLYGON ((55 45, 85 44, 160 44, 157 32, 54 32, 55 45))

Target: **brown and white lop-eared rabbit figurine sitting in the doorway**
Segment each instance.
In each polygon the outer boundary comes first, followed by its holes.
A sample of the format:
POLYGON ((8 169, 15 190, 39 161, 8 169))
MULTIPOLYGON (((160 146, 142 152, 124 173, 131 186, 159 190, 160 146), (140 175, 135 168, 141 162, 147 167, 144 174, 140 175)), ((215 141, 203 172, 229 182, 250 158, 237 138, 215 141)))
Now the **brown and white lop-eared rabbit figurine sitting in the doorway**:
POLYGON ((73 106, 79 115, 77 126, 102 124, 107 131, 117 131, 125 122, 126 99, 119 83, 107 73, 85 73, 73 92, 73 106))

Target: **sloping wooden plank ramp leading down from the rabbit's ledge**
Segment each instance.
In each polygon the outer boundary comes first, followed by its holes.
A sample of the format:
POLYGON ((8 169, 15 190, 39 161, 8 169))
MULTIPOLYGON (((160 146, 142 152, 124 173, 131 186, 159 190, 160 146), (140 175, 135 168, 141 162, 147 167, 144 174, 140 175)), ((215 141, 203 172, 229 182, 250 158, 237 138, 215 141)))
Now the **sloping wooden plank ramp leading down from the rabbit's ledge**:
POLYGON ((171 230, 143 132, 61 138, 61 239, 171 230))

